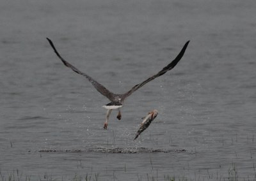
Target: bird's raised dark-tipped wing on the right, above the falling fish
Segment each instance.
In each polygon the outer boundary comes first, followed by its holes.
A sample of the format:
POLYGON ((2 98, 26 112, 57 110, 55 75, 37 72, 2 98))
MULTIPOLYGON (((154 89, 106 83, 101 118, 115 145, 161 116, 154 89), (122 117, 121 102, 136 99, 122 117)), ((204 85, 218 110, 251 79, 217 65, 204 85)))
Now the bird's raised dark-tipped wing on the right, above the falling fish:
POLYGON ((164 73, 166 73, 170 69, 173 69, 176 66, 176 64, 180 61, 182 56, 184 55, 184 53, 186 51, 186 48, 188 47, 188 43, 189 43, 189 41, 187 41, 187 43, 185 43, 185 45, 182 48, 182 50, 180 51, 179 55, 177 55, 177 57, 172 62, 170 62, 170 64, 168 64, 161 71, 159 71, 159 73, 157 73, 156 75, 151 76, 150 78, 148 78, 147 80, 145 80, 145 81, 143 81, 141 83, 138 83, 137 85, 132 87, 132 89, 130 91, 126 92, 125 94, 122 94, 122 100, 124 100, 125 98, 130 96, 134 91, 138 90, 140 87, 142 87, 146 83, 150 82, 151 80, 154 80, 158 76, 164 75, 164 73))

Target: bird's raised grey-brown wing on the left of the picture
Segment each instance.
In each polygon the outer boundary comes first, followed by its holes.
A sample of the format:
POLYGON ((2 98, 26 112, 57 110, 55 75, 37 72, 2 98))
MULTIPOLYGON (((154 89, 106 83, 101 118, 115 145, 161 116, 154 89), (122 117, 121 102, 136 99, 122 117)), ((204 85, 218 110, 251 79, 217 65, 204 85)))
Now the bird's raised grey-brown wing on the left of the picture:
POLYGON ((99 82, 94 80, 91 76, 87 75, 86 73, 83 73, 83 72, 79 71, 79 69, 75 68, 74 66, 72 66, 72 64, 65 61, 65 59, 63 59, 63 57, 61 57, 61 55, 58 53, 58 51, 54 47, 52 41, 49 38, 46 38, 46 39, 49 41, 49 43, 50 43, 51 47, 53 48, 55 54, 61 59, 61 61, 63 62, 63 64, 65 64, 65 66, 67 66, 68 68, 71 68, 76 73, 85 76, 92 83, 93 87, 95 87, 95 89, 97 89, 97 91, 99 91, 100 94, 102 94, 103 96, 106 96, 110 101, 115 100, 115 97, 114 97, 115 94, 113 94, 113 92, 108 91, 108 89, 106 89, 106 87, 104 87, 99 82))

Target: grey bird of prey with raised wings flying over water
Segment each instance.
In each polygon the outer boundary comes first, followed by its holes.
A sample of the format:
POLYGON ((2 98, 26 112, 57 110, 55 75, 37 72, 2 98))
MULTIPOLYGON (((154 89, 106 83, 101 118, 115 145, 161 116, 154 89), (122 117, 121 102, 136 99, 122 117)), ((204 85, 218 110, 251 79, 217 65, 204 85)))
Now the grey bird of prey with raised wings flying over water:
POLYGON ((63 62, 63 64, 65 66, 67 66, 68 68, 71 68, 76 73, 85 76, 85 78, 87 78, 92 83, 93 87, 95 87, 95 89, 97 89, 97 91, 99 91, 100 94, 102 94, 103 96, 106 96, 106 98, 108 98, 111 101, 107 105, 103 106, 104 108, 107 109, 106 121, 104 122, 104 129, 107 129, 107 127, 108 127, 109 115, 112 112, 112 110, 113 109, 117 109, 118 110, 118 115, 117 115, 116 118, 118 120, 120 120, 122 118, 120 108, 122 108, 124 100, 127 97, 131 96, 131 94, 133 92, 137 91, 140 87, 142 87, 146 83, 150 82, 151 80, 154 80, 158 76, 164 75, 164 73, 166 73, 167 71, 173 69, 176 66, 176 64, 180 61, 182 56, 184 55, 184 53, 186 51, 186 48, 188 47, 188 43, 189 43, 189 41, 187 41, 185 43, 184 47, 182 48, 182 50, 180 51, 179 55, 177 55, 177 57, 172 62, 170 62, 170 64, 168 64, 163 69, 161 69, 161 71, 159 71, 158 73, 156 73, 153 76, 150 76, 150 78, 148 78, 147 80, 134 85, 134 87, 132 87, 132 89, 130 89, 129 91, 125 92, 124 94, 115 94, 115 93, 109 91, 108 89, 106 89, 106 87, 104 87, 102 84, 97 82, 91 76, 87 75, 86 73, 83 73, 82 71, 80 71, 76 67, 72 66, 72 64, 70 64, 69 62, 65 61, 65 59, 63 59, 63 57, 61 57, 61 55, 58 53, 58 51, 54 47, 52 41, 49 38, 47 38, 47 40, 49 41, 49 43, 50 43, 51 47, 53 48, 55 54, 60 58, 60 60, 63 62))

